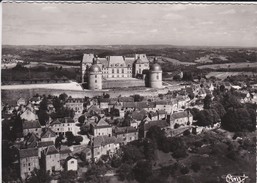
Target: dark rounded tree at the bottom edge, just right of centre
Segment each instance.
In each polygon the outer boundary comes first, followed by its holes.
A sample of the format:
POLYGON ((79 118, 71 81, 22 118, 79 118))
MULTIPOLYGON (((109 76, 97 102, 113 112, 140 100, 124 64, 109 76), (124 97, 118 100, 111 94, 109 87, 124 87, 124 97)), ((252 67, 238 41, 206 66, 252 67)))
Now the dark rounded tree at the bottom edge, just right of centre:
POLYGON ((135 179, 140 183, 144 183, 153 173, 152 164, 145 160, 138 161, 136 166, 133 168, 133 172, 135 179))

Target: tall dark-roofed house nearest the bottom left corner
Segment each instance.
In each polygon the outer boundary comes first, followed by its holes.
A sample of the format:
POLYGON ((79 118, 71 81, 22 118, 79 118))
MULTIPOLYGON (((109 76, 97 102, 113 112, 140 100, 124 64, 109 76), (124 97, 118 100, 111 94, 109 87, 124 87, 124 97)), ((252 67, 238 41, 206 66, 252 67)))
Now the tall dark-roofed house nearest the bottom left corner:
POLYGON ((19 150, 20 177, 25 180, 36 168, 39 169, 38 149, 20 149, 19 150))

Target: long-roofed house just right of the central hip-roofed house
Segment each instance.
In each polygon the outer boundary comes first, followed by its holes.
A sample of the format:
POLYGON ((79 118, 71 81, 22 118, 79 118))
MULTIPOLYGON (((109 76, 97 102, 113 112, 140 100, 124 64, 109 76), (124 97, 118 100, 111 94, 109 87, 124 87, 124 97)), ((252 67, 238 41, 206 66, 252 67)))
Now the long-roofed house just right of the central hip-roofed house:
POLYGON ((128 142, 134 140, 138 140, 138 131, 132 126, 116 127, 113 133, 115 137, 121 138, 124 144, 127 144, 128 142))

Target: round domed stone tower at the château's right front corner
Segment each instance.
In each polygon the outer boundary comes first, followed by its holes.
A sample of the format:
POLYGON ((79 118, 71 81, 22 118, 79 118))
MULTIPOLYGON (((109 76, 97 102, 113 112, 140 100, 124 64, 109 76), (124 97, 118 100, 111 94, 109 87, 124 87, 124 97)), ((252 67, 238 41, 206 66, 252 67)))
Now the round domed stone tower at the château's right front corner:
POLYGON ((149 86, 151 88, 162 88, 162 69, 157 64, 157 59, 154 59, 154 63, 150 66, 149 71, 149 86))

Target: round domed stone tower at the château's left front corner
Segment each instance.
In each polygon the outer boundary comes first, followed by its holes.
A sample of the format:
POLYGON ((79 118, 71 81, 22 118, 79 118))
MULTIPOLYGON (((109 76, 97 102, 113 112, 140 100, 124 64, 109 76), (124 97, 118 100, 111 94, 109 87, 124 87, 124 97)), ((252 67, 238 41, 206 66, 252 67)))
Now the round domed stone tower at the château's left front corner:
POLYGON ((97 59, 93 59, 93 65, 88 72, 88 89, 101 90, 102 89, 102 71, 97 65, 97 59))

